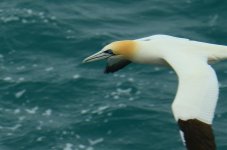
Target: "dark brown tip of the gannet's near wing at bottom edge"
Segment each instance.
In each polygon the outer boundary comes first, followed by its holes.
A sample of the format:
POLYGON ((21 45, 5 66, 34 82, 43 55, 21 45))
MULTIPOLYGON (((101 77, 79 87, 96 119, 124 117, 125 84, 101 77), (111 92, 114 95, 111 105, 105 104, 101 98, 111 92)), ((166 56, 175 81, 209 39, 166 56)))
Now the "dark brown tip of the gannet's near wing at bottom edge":
POLYGON ((188 150, 216 150, 211 125, 197 119, 178 120, 178 125, 188 150))

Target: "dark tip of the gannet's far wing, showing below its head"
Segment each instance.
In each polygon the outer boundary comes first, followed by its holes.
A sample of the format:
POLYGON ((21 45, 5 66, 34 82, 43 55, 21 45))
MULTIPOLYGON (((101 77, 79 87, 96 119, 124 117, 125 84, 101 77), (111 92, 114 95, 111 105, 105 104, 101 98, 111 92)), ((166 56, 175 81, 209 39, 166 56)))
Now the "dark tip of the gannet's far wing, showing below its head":
POLYGON ((122 56, 112 56, 107 60, 107 65, 104 73, 114 73, 130 63, 131 61, 124 59, 124 57, 122 56))

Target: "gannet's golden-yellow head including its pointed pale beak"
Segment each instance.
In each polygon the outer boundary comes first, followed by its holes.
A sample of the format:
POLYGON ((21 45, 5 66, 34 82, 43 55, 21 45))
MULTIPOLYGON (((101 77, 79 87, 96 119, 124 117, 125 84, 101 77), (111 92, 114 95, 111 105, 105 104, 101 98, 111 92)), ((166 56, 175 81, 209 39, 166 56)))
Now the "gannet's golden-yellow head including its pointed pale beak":
POLYGON ((106 45, 101 51, 85 58, 83 63, 98 61, 111 57, 121 56, 132 60, 137 51, 137 43, 133 40, 116 41, 106 45))

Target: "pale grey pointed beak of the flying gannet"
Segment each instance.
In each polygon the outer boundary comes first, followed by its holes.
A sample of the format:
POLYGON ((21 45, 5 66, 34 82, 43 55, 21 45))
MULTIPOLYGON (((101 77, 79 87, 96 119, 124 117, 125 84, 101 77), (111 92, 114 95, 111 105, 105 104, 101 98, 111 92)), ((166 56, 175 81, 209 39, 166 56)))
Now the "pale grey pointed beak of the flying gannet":
POLYGON ((112 54, 108 54, 108 53, 105 53, 105 52, 98 52, 98 53, 95 53, 95 54, 85 58, 83 60, 83 63, 88 63, 88 62, 98 61, 98 60, 102 60, 102 59, 107 59, 107 58, 109 58, 111 56, 112 56, 112 54))

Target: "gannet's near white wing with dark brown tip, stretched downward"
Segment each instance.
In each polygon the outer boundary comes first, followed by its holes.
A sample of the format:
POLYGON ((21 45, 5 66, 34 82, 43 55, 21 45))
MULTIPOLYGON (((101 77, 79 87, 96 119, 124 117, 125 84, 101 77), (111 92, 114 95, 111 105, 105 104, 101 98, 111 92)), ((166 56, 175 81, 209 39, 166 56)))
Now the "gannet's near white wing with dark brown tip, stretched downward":
MULTIPOLYGON (((212 120, 218 99, 218 80, 207 59, 176 52, 166 55, 179 85, 172 110, 189 150, 215 150, 212 120)), ((183 141, 184 141, 183 140, 183 141)))

